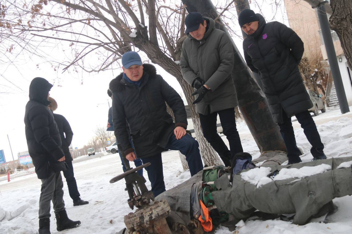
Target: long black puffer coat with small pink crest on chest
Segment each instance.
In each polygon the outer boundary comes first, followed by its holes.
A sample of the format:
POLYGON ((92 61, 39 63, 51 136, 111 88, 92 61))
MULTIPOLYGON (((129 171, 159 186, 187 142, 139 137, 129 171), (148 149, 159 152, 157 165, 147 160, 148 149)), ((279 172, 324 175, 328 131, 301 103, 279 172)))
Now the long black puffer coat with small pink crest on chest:
POLYGON ((304 47, 299 36, 277 21, 267 23, 262 15, 259 28, 243 41, 249 68, 260 74, 263 92, 274 120, 282 122, 282 108, 288 116, 313 106, 298 70, 304 47))

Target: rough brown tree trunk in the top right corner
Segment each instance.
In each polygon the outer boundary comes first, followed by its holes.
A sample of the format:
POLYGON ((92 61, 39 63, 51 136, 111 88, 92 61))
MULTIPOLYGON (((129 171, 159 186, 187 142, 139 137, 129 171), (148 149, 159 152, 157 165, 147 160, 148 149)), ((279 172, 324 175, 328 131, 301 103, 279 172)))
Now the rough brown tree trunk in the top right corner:
POLYGON ((348 67, 352 69, 352 1, 331 0, 330 4, 333 9, 329 20, 330 28, 339 36, 348 67))

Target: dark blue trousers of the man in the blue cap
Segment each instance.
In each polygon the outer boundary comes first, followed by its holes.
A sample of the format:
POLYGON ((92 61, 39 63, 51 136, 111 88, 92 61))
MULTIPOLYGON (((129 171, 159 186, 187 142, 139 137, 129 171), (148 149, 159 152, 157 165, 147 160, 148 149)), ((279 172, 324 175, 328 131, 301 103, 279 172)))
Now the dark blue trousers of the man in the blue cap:
MULTIPOLYGON (((203 169, 203 163, 199 152, 199 144, 192 136, 186 134, 181 139, 176 140, 175 134, 172 134, 165 148, 178 150, 182 154, 186 155, 191 176, 197 174, 203 169)), ((165 191, 161 153, 151 157, 142 158, 142 161, 143 163, 151 163, 150 166, 145 169, 148 173, 148 178, 152 186, 152 192, 154 196, 157 196, 165 191)))

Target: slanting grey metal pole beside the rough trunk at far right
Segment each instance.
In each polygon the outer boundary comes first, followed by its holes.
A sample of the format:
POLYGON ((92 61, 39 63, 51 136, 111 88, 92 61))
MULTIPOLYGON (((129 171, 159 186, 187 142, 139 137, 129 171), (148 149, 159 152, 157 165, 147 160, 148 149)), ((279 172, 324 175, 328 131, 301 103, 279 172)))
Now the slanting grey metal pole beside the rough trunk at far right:
POLYGON ((320 22, 321 33, 323 35, 326 54, 328 56, 332 78, 334 80, 334 85, 336 88, 337 98, 339 100, 340 111, 342 114, 344 114, 350 112, 350 108, 348 107, 345 88, 344 84, 342 83, 340 68, 336 58, 334 42, 332 41, 331 37, 331 29, 326 15, 326 10, 324 6, 326 2, 327 1, 320 2, 320 4, 317 6, 318 18, 320 22))

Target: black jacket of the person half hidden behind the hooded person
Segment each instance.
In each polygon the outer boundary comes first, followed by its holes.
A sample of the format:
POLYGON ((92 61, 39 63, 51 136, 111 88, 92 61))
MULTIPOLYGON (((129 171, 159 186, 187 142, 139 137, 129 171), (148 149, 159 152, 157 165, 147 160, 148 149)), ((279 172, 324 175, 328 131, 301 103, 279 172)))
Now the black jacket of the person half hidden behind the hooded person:
POLYGON ((63 115, 54 113, 54 119, 59 129, 62 144, 61 148, 65 153, 65 161, 72 161, 73 159, 69 149, 73 138, 71 126, 63 115))

